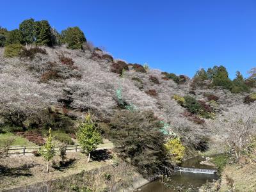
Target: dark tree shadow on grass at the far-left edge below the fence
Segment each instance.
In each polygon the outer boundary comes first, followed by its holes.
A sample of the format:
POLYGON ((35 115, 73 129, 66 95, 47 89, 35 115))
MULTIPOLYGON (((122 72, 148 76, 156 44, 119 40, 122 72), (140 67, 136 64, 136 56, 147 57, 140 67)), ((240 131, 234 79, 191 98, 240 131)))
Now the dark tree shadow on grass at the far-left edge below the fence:
POLYGON ((15 168, 8 168, 0 165, 0 176, 2 177, 31 177, 30 168, 33 168, 36 164, 24 164, 15 168))

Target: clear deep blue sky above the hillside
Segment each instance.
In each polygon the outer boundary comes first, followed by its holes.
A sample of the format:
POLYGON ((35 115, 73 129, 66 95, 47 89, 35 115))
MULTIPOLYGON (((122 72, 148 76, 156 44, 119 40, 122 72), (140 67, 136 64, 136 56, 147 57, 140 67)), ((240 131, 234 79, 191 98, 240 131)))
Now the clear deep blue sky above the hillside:
POLYGON ((61 31, 79 26, 115 58, 193 76, 224 65, 230 77, 256 67, 256 1, 1 1, 0 26, 49 20, 61 31))

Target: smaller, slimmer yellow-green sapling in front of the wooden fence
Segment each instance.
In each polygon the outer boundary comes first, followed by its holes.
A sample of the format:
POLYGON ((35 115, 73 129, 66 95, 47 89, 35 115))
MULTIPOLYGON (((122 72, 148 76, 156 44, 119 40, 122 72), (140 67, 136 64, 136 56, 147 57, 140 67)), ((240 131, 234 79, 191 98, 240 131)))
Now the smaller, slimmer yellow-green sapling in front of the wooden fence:
POLYGON ((49 173, 49 161, 55 156, 54 143, 52 143, 51 128, 49 129, 49 136, 43 148, 40 148, 39 153, 47 161, 47 173, 49 173))

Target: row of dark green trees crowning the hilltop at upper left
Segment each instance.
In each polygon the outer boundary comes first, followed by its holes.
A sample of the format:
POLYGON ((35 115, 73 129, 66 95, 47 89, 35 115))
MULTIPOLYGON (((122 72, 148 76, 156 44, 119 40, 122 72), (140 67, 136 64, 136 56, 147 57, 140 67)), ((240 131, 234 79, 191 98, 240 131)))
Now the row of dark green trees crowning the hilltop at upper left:
POLYGON ((78 27, 67 28, 61 31, 51 28, 47 20, 26 19, 19 24, 19 29, 8 31, 0 28, 0 46, 10 44, 35 44, 54 45, 67 44, 68 49, 83 49, 83 43, 86 42, 83 31, 78 27))

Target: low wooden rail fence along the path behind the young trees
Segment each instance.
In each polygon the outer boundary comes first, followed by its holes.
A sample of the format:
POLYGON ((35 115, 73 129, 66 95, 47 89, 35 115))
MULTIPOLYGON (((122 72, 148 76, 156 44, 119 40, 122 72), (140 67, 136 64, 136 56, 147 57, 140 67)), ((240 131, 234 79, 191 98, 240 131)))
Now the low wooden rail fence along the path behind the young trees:
MULTIPOLYGON (((0 154, 4 156, 26 156, 28 154, 33 154, 33 152, 40 150, 41 147, 23 147, 23 146, 12 146, 6 148, 6 150, 0 150, 0 154)), ((61 146, 54 147, 56 152, 60 151, 61 146)), ((110 149, 114 147, 99 147, 100 149, 110 149)), ((81 145, 66 145, 66 152, 77 152, 81 150, 81 145)))

